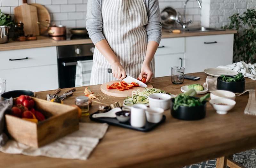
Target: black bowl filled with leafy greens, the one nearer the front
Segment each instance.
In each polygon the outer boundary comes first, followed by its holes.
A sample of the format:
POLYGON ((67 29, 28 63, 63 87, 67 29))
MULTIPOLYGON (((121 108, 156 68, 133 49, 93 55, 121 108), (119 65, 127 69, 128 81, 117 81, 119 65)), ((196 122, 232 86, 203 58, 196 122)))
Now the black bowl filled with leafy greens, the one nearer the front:
POLYGON ((203 97, 192 97, 196 94, 194 89, 181 93, 171 100, 171 115, 182 120, 199 120, 205 118, 206 103, 210 94, 203 97))

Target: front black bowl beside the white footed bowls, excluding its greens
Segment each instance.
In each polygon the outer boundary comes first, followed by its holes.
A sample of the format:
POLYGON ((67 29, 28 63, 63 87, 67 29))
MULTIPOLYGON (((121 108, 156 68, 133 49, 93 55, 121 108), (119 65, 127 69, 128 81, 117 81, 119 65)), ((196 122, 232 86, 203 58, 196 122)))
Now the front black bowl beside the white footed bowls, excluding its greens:
MULTIPOLYGON (((196 97, 194 97, 196 98, 196 97)), ((205 118, 206 102, 203 105, 195 107, 180 106, 177 110, 173 109, 174 98, 171 100, 171 114, 172 117, 182 120, 199 120, 205 118)))

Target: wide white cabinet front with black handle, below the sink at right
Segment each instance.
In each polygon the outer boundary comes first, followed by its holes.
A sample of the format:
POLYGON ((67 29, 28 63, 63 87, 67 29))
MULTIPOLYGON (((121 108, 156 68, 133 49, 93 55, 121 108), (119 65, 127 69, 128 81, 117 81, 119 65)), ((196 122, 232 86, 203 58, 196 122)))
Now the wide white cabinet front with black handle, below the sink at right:
POLYGON ((186 37, 185 73, 232 64, 234 34, 186 37))

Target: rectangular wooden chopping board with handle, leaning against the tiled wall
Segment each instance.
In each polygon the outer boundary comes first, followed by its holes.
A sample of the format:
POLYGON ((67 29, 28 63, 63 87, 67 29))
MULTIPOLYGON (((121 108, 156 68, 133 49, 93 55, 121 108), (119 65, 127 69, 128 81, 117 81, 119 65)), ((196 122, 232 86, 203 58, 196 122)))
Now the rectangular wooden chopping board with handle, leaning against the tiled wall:
POLYGON ((14 8, 15 20, 17 23, 21 21, 24 24, 25 35, 39 35, 37 9, 35 6, 27 4, 26 0, 23 0, 23 3, 14 8))

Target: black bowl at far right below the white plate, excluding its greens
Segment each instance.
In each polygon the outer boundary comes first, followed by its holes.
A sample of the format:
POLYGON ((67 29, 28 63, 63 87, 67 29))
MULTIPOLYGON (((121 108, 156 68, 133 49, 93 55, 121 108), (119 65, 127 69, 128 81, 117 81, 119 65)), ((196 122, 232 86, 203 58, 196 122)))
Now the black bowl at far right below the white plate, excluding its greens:
MULTIPOLYGON (((234 76, 228 76, 228 77, 234 77, 234 76)), ((245 79, 243 79, 240 82, 224 82, 222 78, 219 76, 217 78, 217 89, 228 90, 233 93, 242 93, 245 89, 245 79)))

